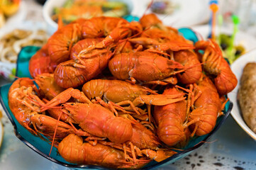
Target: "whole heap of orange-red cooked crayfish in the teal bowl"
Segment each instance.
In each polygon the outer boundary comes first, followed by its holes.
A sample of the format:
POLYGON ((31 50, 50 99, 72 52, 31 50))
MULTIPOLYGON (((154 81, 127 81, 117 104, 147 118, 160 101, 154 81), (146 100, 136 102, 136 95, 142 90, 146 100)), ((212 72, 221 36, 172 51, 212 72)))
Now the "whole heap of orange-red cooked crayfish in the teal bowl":
POLYGON ((154 14, 59 27, 29 71, 9 90, 18 122, 67 162, 112 168, 161 162, 211 132, 238 83, 214 40, 193 44, 154 14))

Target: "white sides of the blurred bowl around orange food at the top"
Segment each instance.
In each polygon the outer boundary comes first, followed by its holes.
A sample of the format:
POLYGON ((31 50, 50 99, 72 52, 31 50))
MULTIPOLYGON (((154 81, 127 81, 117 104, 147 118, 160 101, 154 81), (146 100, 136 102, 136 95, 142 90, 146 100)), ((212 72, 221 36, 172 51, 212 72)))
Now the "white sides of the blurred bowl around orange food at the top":
MULTIPOLYGON (((47 33, 48 35, 52 35, 57 30, 57 23, 52 20, 52 12, 55 7, 61 7, 65 4, 67 0, 48 0, 45 2, 43 6, 43 18, 47 23, 47 33)), ((131 15, 136 16, 136 13, 140 11, 140 4, 138 0, 108 0, 108 1, 122 1, 123 3, 128 5, 128 11, 131 15)))

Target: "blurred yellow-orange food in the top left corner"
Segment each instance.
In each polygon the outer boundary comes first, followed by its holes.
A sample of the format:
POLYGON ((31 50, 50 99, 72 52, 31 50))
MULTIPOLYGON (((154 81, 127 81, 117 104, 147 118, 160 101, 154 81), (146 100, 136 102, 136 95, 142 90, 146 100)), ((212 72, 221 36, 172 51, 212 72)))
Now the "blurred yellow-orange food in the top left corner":
POLYGON ((6 19, 18 11, 21 0, 0 0, 0 28, 6 19))

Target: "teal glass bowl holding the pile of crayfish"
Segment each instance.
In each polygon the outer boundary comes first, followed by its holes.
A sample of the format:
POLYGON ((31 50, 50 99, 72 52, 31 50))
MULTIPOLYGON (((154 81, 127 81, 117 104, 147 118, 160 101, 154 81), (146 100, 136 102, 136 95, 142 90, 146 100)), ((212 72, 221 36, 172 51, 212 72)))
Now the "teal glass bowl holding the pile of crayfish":
MULTIPOLYGON (((190 30, 189 28, 184 28, 182 29, 181 32, 183 35, 186 35, 185 38, 196 42, 196 39, 195 39, 196 34, 193 35, 192 30, 190 30)), ((39 50, 38 47, 33 47, 33 46, 23 47, 23 49, 18 55, 18 61, 17 61, 18 64, 16 69, 17 77, 30 77, 30 74, 28 72, 28 61, 30 60, 30 57, 32 57, 37 50, 39 50)), ((60 154, 58 154, 57 149, 55 147, 53 147, 52 152, 49 156, 49 152, 51 148, 50 142, 46 140, 42 140, 38 136, 32 135, 30 132, 28 132, 28 130, 26 130, 26 128, 23 128, 23 126, 21 126, 18 123, 13 113, 11 113, 11 110, 8 104, 8 92, 9 92, 10 86, 11 84, 7 84, 5 86, 0 87, 0 95, 1 95, 0 101, 4 110, 6 111, 6 114, 11 120, 11 123, 13 124, 14 132, 16 137, 18 137, 18 139, 20 139, 23 143, 25 143, 28 147, 33 149, 35 152, 38 152, 38 154, 62 166, 67 166, 67 167, 72 167, 77 169, 106 169, 102 166, 77 165, 77 164, 71 164, 69 162, 66 162, 65 159, 63 159, 60 156, 60 154)), ((201 147, 201 145, 204 145, 204 143, 211 137, 211 135, 213 135, 213 133, 215 133, 221 127, 221 125, 224 123, 226 118, 228 118, 228 115, 230 114, 232 107, 233 107, 233 103, 228 101, 223 111, 224 115, 218 118, 216 127, 208 135, 192 138, 183 151, 177 151, 178 152, 177 154, 174 154, 174 156, 169 157, 168 159, 165 159, 162 162, 152 161, 150 162, 150 164, 147 164, 142 169, 152 169, 159 166, 164 166, 166 164, 171 164, 173 162, 176 162, 178 159, 181 159, 187 156, 192 151, 194 151, 194 149, 197 149, 201 147)))

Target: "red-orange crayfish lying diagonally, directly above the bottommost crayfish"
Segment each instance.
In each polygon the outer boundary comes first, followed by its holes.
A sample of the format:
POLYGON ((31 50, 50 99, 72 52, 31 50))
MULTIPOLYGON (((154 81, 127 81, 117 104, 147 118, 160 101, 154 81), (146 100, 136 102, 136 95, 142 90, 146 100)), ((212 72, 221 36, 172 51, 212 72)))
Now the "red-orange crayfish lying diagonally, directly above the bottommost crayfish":
POLYGON ((130 140, 133 135, 129 120, 116 117, 111 111, 99 104, 65 103, 67 114, 73 118, 82 130, 98 137, 108 137, 116 143, 130 140))

